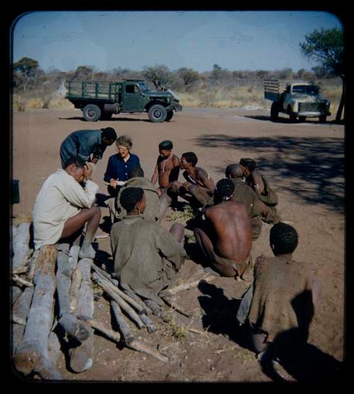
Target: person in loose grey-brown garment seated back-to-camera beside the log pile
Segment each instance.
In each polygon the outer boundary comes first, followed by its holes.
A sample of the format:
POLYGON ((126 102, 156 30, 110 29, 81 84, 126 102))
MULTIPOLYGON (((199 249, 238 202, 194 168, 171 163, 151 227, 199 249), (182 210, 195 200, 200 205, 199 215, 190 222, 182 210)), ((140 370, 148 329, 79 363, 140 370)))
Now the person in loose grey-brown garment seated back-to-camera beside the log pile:
POLYGON ((164 305, 159 292, 174 284, 186 257, 184 227, 175 223, 167 231, 146 219, 147 202, 141 187, 125 188, 120 204, 127 216, 110 231, 115 277, 125 291, 164 305))

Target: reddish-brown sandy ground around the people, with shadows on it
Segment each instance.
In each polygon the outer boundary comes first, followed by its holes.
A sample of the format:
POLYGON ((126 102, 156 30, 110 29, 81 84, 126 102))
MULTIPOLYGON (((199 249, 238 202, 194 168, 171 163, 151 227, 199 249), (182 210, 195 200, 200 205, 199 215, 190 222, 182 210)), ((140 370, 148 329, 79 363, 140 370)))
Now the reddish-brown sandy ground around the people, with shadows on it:
MULTIPOLYGON (((292 378, 323 379, 344 357, 344 127, 317 119, 292 123, 281 115, 270 122, 264 110, 183 109, 171 122, 154 124, 146 114, 115 115, 105 122, 85 122, 79 110, 32 110, 13 114, 13 178, 20 181, 21 202, 13 206, 13 216, 29 214, 42 182, 60 168, 59 146, 67 135, 79 129, 114 127, 118 135, 132 138, 132 152, 151 178, 157 146, 171 139, 174 153, 194 151, 198 166, 217 182, 224 168, 242 157, 256 160, 278 193, 282 219, 292 221, 299 233, 295 260, 309 260, 321 281, 321 303, 309 333, 306 366, 296 366, 292 378)), ((110 146, 93 175, 106 195, 103 173, 110 146)), ((181 176, 181 175, 180 175, 181 176)), ((102 229, 108 209, 102 208, 102 229)), ((171 221, 164 220, 166 228, 171 221)), ((253 243, 252 255, 271 255, 270 226, 263 225, 253 243)), ((110 262, 109 238, 98 240, 98 249, 110 262)), ((198 254, 187 260, 180 282, 200 277, 198 254)), ((76 374, 70 371, 62 354, 59 370, 65 379, 75 381, 270 381, 255 355, 245 347, 236 327, 235 313, 246 284, 216 277, 210 284, 185 291, 176 298, 193 312, 192 318, 171 313, 171 323, 154 320, 159 330, 149 334, 132 326, 146 344, 171 357, 169 363, 117 346, 96 335, 93 366, 76 374), (183 325, 178 330, 176 324, 183 325), (198 330, 198 332, 189 329, 198 330)), ((110 325, 109 304, 96 301, 95 317, 110 325)), ((63 345, 64 346, 64 345, 63 345)))

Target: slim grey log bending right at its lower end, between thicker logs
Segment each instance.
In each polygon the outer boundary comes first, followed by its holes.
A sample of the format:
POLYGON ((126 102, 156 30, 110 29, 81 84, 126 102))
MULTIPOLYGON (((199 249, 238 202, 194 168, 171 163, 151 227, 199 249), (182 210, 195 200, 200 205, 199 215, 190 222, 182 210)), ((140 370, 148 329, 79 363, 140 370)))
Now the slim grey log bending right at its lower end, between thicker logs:
POLYGON ((64 328, 70 337, 79 342, 89 337, 86 325, 71 313, 70 288, 72 285, 72 272, 74 265, 69 262, 69 244, 62 243, 57 246, 57 295, 59 300, 59 325, 64 328))

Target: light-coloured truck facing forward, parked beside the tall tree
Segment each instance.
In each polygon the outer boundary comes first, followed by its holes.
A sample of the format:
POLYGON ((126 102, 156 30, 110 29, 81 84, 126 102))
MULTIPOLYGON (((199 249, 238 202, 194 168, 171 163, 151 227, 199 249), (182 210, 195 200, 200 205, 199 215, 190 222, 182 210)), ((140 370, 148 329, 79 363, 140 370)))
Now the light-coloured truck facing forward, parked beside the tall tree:
POLYGON ((304 81, 279 81, 265 79, 264 97, 273 101, 270 107, 270 120, 277 120, 279 112, 289 115, 290 120, 305 122, 307 117, 319 117, 319 122, 326 122, 329 112, 329 100, 319 93, 319 86, 304 81))

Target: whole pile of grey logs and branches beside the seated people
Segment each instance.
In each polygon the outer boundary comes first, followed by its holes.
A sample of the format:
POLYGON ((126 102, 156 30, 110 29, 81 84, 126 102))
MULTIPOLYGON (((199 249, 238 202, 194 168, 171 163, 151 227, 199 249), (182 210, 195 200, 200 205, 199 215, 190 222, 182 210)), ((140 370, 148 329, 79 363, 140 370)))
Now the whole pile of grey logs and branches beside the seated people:
MULTIPOLYGON (((154 313, 164 318, 161 307, 144 302, 135 294, 126 294, 119 288, 118 281, 93 260, 79 259, 79 238, 72 245, 43 245, 40 250, 33 251, 29 247, 30 223, 13 226, 11 233, 11 339, 13 364, 18 371, 25 376, 61 380, 57 361, 63 337, 69 344, 65 348, 69 348, 72 371, 79 373, 91 369, 95 332, 160 361, 169 361, 164 354, 135 339, 131 323, 128 323, 131 320, 137 328, 154 332, 156 327, 148 315, 154 313), (97 286, 110 300, 119 331, 93 318, 93 288, 97 286)), ((209 282, 212 278, 202 279, 209 282)), ((198 286, 199 282, 166 290, 161 296, 167 305, 190 316, 171 297, 178 291, 198 286)))

